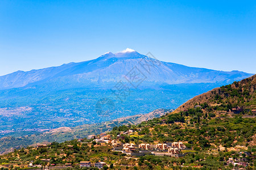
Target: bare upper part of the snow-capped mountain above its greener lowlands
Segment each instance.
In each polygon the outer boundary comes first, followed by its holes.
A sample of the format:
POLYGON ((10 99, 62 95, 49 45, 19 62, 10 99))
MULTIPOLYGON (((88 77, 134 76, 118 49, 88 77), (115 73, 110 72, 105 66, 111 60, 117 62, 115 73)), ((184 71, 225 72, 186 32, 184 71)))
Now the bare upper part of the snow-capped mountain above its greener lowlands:
POLYGON ((138 83, 232 83, 251 75, 241 71, 216 71, 163 62, 126 49, 115 54, 108 52, 90 61, 0 76, 0 90, 17 87, 81 88, 112 85, 119 81, 134 83, 135 87, 138 83), (139 82, 134 79, 135 74, 139 82))

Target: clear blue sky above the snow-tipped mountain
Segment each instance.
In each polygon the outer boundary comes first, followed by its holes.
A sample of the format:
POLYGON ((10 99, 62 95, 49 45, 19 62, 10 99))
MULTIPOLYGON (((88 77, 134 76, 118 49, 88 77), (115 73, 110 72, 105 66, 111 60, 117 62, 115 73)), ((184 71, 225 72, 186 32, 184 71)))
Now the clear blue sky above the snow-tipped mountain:
POLYGON ((256 73, 256 1, 0 1, 0 75, 126 48, 256 73))

